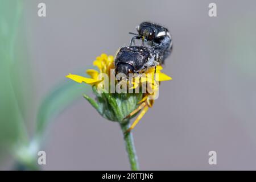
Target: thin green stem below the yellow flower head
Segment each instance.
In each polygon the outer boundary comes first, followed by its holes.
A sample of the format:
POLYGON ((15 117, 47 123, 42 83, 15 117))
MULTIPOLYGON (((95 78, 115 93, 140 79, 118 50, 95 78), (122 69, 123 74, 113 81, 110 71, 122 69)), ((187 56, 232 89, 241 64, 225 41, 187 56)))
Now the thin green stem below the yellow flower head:
POLYGON ((137 171, 139 170, 139 163, 135 151, 133 134, 131 132, 125 133, 129 129, 130 124, 129 122, 120 123, 120 126, 123 132, 123 139, 125 140, 125 147, 130 161, 131 170, 137 171))

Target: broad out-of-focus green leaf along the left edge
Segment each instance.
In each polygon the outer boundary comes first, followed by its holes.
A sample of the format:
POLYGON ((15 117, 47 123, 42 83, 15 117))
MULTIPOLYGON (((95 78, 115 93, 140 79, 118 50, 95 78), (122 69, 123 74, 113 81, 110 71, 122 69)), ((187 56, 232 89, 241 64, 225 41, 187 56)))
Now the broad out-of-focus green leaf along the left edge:
POLYGON ((0 152, 16 143, 28 142, 24 121, 29 104, 23 98, 29 95, 26 77, 29 71, 26 42, 20 41, 19 36, 23 30, 22 3, 0 1, 0 152))

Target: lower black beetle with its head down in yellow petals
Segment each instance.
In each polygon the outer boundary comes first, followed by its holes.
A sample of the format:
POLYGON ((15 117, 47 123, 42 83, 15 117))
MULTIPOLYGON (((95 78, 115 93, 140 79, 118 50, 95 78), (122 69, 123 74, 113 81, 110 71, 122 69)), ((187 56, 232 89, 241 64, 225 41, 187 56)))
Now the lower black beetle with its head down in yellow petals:
POLYGON ((115 74, 143 73, 158 65, 156 55, 143 46, 122 47, 115 56, 115 74))

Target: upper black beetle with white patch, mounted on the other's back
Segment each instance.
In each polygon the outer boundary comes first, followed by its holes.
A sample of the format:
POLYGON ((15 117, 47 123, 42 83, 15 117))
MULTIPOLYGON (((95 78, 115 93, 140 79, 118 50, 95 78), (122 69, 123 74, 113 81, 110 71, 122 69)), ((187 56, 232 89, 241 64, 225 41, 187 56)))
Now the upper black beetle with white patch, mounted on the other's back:
POLYGON ((156 54, 158 54, 158 61, 160 64, 164 63, 164 60, 170 55, 172 49, 172 38, 167 28, 160 26, 159 24, 142 22, 137 27, 138 34, 131 39, 130 45, 135 43, 135 39, 141 39, 144 42, 148 42, 148 45, 152 48, 156 54))

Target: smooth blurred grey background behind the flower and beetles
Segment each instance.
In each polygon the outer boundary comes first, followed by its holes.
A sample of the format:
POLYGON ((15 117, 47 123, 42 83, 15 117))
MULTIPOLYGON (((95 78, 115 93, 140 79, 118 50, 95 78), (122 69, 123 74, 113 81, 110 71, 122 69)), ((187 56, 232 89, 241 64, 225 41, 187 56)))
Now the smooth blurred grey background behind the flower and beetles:
MULTIPOLYGON (((35 107, 68 73, 127 46, 127 33, 139 23, 157 22, 174 40, 163 70, 173 80, 162 83, 154 107, 133 131, 140 168, 255 170, 255 10, 255 1, 27 0, 24 36, 35 107), (46 18, 37 15, 40 2, 46 18), (208 16, 210 2, 217 4, 217 17, 208 16), (211 150, 217 165, 208 164, 211 150)), ((41 149, 47 154, 43 169, 129 169, 118 124, 82 96, 55 119, 41 149)))

